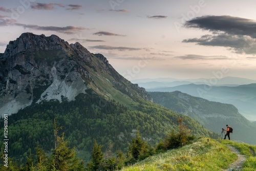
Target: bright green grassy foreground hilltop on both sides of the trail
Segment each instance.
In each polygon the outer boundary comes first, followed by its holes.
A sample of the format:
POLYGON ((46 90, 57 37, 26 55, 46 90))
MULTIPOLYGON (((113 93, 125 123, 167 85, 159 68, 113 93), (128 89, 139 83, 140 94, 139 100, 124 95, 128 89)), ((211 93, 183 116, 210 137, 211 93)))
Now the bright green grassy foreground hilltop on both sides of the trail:
POLYGON ((138 170, 223 170, 228 169, 229 164, 238 159, 238 155, 231 152, 227 145, 234 146, 246 155, 247 160, 242 170, 255 170, 256 157, 255 145, 239 143, 229 140, 213 140, 201 138, 195 143, 172 149, 166 153, 158 154, 125 167, 123 171, 138 170), (209 141, 208 141, 209 140, 209 141))

